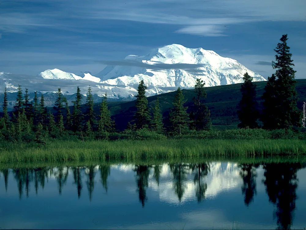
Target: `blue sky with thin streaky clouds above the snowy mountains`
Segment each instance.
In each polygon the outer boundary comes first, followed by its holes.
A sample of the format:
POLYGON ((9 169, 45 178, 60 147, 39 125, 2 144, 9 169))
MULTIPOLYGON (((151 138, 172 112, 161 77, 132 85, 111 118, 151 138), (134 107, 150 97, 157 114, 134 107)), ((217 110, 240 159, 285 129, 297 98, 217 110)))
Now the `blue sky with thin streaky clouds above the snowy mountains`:
POLYGON ((306 72, 305 0, 1 0, 0 71, 82 75, 99 60, 145 55, 168 44, 202 47, 267 78, 288 34, 297 71, 306 72))

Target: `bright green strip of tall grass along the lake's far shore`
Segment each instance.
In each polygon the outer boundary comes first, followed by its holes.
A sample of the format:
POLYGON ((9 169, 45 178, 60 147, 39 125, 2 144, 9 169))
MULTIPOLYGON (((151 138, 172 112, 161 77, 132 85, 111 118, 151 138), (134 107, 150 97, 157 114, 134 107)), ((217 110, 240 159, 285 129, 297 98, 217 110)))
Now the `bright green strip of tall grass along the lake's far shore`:
POLYGON ((0 143, 0 163, 100 161, 110 159, 174 160, 207 157, 306 155, 305 140, 119 140, 52 141, 36 144, 0 143))

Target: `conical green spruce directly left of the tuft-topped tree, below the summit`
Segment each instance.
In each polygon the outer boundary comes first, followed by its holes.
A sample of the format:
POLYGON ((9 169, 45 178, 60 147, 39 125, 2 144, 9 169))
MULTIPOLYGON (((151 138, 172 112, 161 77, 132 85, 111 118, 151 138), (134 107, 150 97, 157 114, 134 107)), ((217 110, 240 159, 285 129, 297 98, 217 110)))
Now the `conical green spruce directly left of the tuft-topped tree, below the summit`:
MULTIPOLYGON (((187 101, 187 100, 186 100, 187 101)), ((184 95, 180 87, 177 89, 175 99, 173 102, 173 108, 170 111, 170 123, 171 133, 181 135, 182 132, 188 130, 188 113, 186 110, 188 107, 184 107, 184 95)))

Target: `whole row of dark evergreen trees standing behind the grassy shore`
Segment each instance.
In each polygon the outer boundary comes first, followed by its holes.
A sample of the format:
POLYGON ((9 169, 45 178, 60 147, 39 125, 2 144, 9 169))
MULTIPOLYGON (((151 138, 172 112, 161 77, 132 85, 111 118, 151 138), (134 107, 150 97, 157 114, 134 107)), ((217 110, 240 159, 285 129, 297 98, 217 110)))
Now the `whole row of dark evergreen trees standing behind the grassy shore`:
MULTIPOLYGON (((283 35, 275 50, 276 62, 272 62, 275 74, 268 78, 263 94, 263 113, 260 115, 256 101, 256 85, 248 73, 244 74, 244 83, 241 85, 242 98, 238 105, 237 115, 240 120, 239 128, 264 128, 268 130, 289 129, 300 127, 301 110, 297 108, 297 92, 295 90, 295 72, 291 60, 291 53, 287 46, 287 35, 283 35), (260 127, 259 121, 263 123, 260 127)), ((187 113, 184 106, 186 100, 180 88, 177 89, 173 107, 166 117, 162 116, 159 99, 155 102, 152 111, 149 110, 145 91, 147 87, 142 80, 138 86, 136 96, 136 113, 134 120, 129 122, 123 132, 128 136, 181 136, 188 130, 210 130, 210 110, 205 105, 207 96, 205 83, 196 79, 193 109, 187 113)), ((81 138, 84 140, 109 139, 110 134, 117 133, 114 120, 111 119, 107 107, 107 95, 100 104, 99 114, 95 114, 91 87, 88 88, 86 111, 81 111, 82 95, 77 87, 76 98, 73 101, 73 111, 70 111, 67 99, 58 88, 57 100, 54 105, 55 113, 47 112, 43 95, 38 101, 35 92, 34 100, 29 101, 28 89, 23 95, 21 86, 18 86, 16 104, 12 116, 9 116, 7 105, 7 90, 4 90, 2 103, 3 117, 0 119, 0 140, 33 141, 39 144, 51 138, 81 138)), ((230 114, 229 114, 230 115, 230 114)), ((190 133, 190 132, 189 132, 190 133)), ((116 135, 112 135, 113 137, 116 135)), ((120 135, 117 135, 120 139, 120 135)), ((114 138, 112 138, 114 139, 114 138)))

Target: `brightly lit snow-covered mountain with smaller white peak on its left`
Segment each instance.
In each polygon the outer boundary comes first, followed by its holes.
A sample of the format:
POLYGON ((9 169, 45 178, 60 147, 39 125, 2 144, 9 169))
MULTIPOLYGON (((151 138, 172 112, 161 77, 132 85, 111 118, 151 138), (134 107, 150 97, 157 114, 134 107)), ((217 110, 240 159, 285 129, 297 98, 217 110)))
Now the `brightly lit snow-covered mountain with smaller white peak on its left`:
POLYGON ((266 81, 234 59, 179 44, 157 48, 145 56, 129 55, 117 63, 106 66, 96 77, 86 73, 82 78, 58 69, 39 75, 45 79, 83 79, 100 83, 98 88, 102 92, 112 91, 113 97, 134 97, 141 80, 148 86, 147 96, 171 92, 177 87, 193 88, 197 78, 202 79, 205 86, 228 85, 242 83, 243 75, 248 72, 254 81, 266 81))

